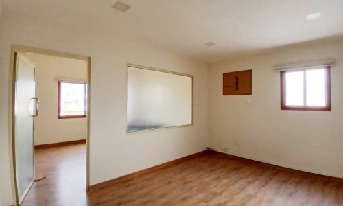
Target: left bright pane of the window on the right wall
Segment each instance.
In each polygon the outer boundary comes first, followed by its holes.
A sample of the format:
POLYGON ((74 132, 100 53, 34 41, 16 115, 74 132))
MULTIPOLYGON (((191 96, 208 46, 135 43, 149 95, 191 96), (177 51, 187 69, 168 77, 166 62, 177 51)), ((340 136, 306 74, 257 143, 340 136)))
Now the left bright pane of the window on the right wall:
POLYGON ((304 105, 304 71, 293 71, 285 74, 286 105, 304 105))

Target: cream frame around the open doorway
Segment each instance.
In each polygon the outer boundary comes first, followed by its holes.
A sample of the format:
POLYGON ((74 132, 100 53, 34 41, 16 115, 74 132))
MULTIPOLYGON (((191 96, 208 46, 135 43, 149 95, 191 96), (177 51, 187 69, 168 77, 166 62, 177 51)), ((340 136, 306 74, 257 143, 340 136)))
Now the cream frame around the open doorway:
POLYGON ((16 95, 16 53, 18 52, 32 52, 36 54, 45 54, 49 56, 58 56, 64 58, 71 58, 76 60, 84 60, 87 62, 87 137, 86 137, 86 190, 89 187, 89 145, 90 145, 90 122, 91 122, 91 57, 82 56, 78 54, 70 54, 67 52, 58 52, 50 49, 41 49, 37 47, 26 47, 23 45, 12 45, 11 58, 10 58, 10 102, 9 102, 9 131, 10 131, 10 164, 11 164, 11 177, 12 177, 12 193, 14 194, 14 204, 19 205, 19 194, 16 181, 16 162, 15 162, 15 148, 14 148, 14 135, 15 135, 15 116, 14 116, 14 104, 16 95))

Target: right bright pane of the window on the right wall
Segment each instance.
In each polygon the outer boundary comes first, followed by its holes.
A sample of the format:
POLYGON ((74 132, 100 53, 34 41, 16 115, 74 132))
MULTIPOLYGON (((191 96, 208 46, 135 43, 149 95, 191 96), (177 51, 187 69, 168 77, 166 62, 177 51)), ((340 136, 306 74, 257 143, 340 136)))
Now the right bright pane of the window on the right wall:
POLYGON ((325 69, 306 71, 306 105, 325 106, 325 69))

